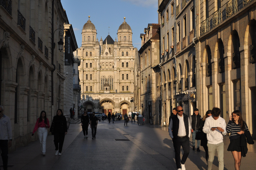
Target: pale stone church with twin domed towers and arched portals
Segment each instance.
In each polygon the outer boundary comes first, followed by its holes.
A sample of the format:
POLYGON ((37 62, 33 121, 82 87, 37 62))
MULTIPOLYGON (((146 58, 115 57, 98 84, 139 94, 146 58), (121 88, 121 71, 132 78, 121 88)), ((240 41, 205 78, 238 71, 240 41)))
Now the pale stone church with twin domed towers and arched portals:
POLYGON ((98 41, 97 30, 89 16, 82 29, 82 46, 75 53, 81 59, 78 70, 82 109, 105 114, 132 111, 134 58, 138 50, 132 45, 132 29, 125 17, 115 41, 110 35, 98 41))

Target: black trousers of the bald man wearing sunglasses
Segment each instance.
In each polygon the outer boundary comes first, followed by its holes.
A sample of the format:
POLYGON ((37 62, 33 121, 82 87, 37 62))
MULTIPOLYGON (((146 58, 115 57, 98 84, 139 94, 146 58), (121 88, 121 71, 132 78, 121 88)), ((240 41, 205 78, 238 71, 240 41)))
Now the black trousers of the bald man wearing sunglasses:
POLYGON ((173 141, 173 147, 175 151, 175 162, 177 169, 181 168, 181 163, 185 164, 188 155, 189 155, 189 138, 184 137, 184 138, 176 138, 172 139, 173 141), (182 159, 180 161, 180 146, 182 146, 182 149, 184 151, 184 154, 182 156, 182 159))

